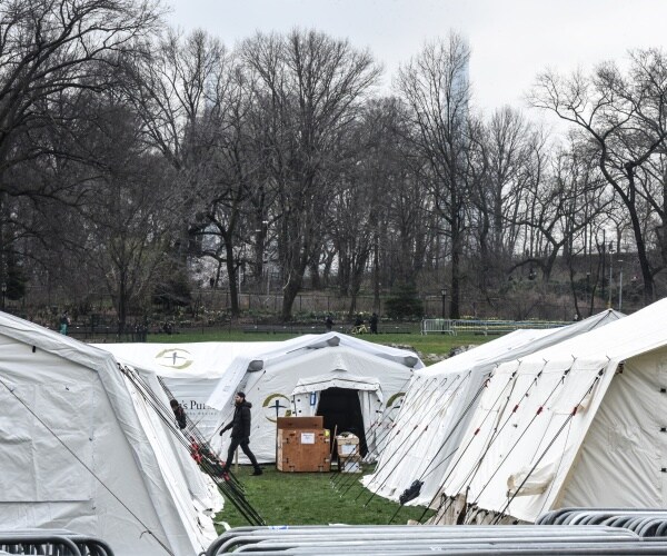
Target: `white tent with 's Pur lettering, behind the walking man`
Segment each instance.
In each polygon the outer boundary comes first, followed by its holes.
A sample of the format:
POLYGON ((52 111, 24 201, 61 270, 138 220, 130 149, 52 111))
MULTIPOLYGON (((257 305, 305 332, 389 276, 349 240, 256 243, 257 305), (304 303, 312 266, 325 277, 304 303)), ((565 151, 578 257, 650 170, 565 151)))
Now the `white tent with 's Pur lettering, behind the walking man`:
POLYGON ((117 360, 162 378, 203 438, 216 433, 219 411, 206 406, 231 361, 241 355, 263 353, 280 341, 201 341, 189 344, 94 344, 117 360))

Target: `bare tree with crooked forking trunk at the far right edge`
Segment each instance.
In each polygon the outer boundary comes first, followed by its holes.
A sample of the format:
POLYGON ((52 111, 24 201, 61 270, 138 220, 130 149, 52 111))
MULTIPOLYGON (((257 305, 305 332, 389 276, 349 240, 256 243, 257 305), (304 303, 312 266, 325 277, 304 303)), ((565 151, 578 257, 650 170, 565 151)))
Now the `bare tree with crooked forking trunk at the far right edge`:
POLYGON ((599 66, 590 77, 575 73, 563 79, 545 73, 538 78, 532 93, 534 106, 577 126, 595 148, 597 166, 631 221, 645 302, 654 299, 654 268, 647 251, 645 222, 638 210, 637 173, 665 149, 666 100, 666 58, 655 49, 631 52, 627 75, 614 63, 599 66))

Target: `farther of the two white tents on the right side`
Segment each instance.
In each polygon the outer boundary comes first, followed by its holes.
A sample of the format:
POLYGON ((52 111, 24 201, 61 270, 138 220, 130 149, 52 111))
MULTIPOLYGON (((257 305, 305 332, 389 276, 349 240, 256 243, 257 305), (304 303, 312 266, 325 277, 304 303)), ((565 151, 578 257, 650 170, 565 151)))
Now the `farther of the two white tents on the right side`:
POLYGON ((415 373, 400 414, 387 433, 377 470, 364 477, 364 484, 379 496, 398 500, 419 480, 419 495, 409 504, 428 505, 456 461, 454 454, 494 368, 620 316, 608 310, 561 328, 517 330, 415 373))

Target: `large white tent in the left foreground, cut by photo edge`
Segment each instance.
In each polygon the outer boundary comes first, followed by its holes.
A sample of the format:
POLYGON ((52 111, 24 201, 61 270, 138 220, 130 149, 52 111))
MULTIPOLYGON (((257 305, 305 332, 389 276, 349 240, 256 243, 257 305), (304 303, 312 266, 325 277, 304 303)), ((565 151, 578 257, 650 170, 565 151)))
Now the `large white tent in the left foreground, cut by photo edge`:
POLYGON ((3 528, 66 528, 123 555, 208 547, 221 498, 147 404, 155 377, 145 387, 109 354, 6 314, 0 354, 3 528))

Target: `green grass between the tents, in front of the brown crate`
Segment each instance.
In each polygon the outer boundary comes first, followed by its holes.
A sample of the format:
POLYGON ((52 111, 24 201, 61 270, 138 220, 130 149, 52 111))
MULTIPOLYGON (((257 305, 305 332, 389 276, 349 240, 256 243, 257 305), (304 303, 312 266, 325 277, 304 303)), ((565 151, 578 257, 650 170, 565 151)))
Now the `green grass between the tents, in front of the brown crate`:
MULTIPOLYGON (((422 507, 401 508, 372 496, 359 483, 361 474, 282 473, 269 465, 263 469, 263 475, 252 477, 250 466, 240 466, 237 478, 246 488, 246 499, 267 525, 387 525, 392 517, 392 524, 405 525, 424 514, 422 507)), ((229 500, 217 520, 232 527, 248 525, 229 500)))

